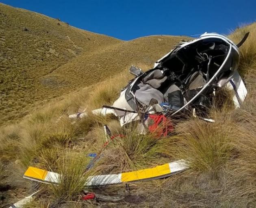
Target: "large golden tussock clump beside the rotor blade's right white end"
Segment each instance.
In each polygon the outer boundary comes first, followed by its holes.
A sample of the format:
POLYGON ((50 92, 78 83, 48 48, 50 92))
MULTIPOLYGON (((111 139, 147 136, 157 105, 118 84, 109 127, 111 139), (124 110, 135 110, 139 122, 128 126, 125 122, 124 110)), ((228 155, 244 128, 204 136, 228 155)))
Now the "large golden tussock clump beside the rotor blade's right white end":
POLYGON ((233 130, 232 123, 220 117, 214 124, 197 119, 185 122, 180 128, 177 156, 187 160, 191 169, 215 174, 232 157, 233 130))

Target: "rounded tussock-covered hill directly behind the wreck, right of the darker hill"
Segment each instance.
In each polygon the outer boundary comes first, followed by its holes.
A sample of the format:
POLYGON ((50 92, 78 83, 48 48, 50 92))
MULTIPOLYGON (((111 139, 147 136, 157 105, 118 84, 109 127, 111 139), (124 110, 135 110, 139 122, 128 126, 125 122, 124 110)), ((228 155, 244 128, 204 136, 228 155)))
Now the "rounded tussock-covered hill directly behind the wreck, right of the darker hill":
POLYGON ((169 52, 181 39, 182 37, 173 36, 143 37, 109 45, 97 51, 84 52, 44 76, 42 82, 54 78, 59 83, 65 83, 65 85, 49 86, 58 92, 93 85, 123 69, 128 69, 130 65, 145 63, 153 66, 157 59, 169 52))

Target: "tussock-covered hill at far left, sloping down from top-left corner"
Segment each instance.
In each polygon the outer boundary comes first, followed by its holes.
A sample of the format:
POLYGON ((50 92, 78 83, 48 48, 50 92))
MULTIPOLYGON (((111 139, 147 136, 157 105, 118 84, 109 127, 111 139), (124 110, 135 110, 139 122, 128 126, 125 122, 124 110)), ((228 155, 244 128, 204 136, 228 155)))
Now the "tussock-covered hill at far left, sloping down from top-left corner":
POLYGON ((24 108, 52 96, 39 82, 41 76, 82 52, 119 42, 38 13, 0 4, 1 120, 17 118, 24 108))

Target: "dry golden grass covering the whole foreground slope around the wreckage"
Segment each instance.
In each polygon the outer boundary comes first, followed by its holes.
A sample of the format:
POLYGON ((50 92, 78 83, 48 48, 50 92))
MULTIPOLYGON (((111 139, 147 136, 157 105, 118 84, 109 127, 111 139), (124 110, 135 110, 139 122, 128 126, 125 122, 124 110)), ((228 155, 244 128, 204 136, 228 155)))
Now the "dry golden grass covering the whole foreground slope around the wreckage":
MULTIPOLYGON (((121 70, 117 72, 121 72, 120 74, 113 75, 114 73, 111 74, 113 71, 108 71, 108 76, 111 76, 108 82, 103 81, 89 87, 80 85, 76 91, 60 96, 50 101, 48 105, 34 108, 19 124, 1 128, 1 206, 9 206, 11 202, 22 199, 35 189, 35 187, 33 189, 34 183, 22 179, 22 174, 29 165, 56 171, 61 173, 63 178, 59 186, 53 184, 40 186, 40 194, 33 202, 26 205, 27 208, 255 206, 256 44, 253 41, 255 28, 256 25, 252 24, 230 35, 237 43, 245 31, 251 31, 249 43, 241 48, 241 70, 249 90, 247 99, 242 108, 234 109, 230 101, 230 93, 219 92, 215 107, 210 113, 210 117, 216 120, 214 124, 199 119, 188 119, 178 123, 175 135, 156 139, 153 134, 137 135, 134 130, 136 126, 121 128, 119 121, 109 116, 89 114, 89 117, 72 123, 67 118, 67 113, 76 113, 79 108, 84 109, 87 106, 88 110, 98 108, 102 104, 111 104, 117 98, 119 89, 130 79, 128 72, 123 72, 125 67, 120 67, 121 70), (61 115, 63 117, 56 123, 61 115), (102 150, 105 142, 104 124, 107 124, 114 134, 124 134, 124 137, 114 139, 103 151, 102 158, 92 169, 93 173, 88 172, 84 175, 90 160, 87 154, 99 153, 102 150), (177 159, 186 159, 190 169, 164 180, 130 184, 130 194, 137 195, 137 204, 134 198, 115 203, 80 200, 83 189, 88 189, 83 186, 87 175, 154 167, 177 159)), ((134 43, 139 45, 146 40, 149 39, 136 39, 134 43)), ((120 42, 115 44, 115 47, 125 45, 129 48, 129 45, 133 44, 131 42, 120 42)), ((153 41, 152 45, 156 43, 153 41)), ((143 44, 144 47, 151 43, 143 44)), ((105 48, 105 52, 111 53, 108 49, 105 48)), ((140 51, 141 54, 144 52, 140 51)), ((76 58, 81 61, 82 56, 76 58)), ((66 65, 75 64, 72 62, 74 60, 66 65)), ((119 59, 115 59, 117 60, 120 66, 123 61, 124 63, 127 61, 124 54, 119 56, 119 59)), ((117 62, 113 61, 110 65, 107 63, 106 67, 111 68, 115 63, 117 62)), ((149 69, 150 66, 144 65, 141 68, 149 69)), ((60 72, 56 69, 54 73, 60 72)), ((70 70, 68 73, 76 72, 70 70)), ((79 78, 78 80, 81 81, 79 78)), ((124 184, 107 186, 100 190, 89 189, 106 195, 125 195, 127 193, 124 190, 124 184)))

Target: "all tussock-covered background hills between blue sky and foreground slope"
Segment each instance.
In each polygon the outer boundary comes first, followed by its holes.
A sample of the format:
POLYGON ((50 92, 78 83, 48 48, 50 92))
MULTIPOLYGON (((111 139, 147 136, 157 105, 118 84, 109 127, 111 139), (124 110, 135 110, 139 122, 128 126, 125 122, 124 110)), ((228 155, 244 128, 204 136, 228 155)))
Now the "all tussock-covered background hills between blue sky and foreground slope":
POLYGON ((182 37, 121 41, 0 4, 0 124, 79 87, 150 63, 182 37))

